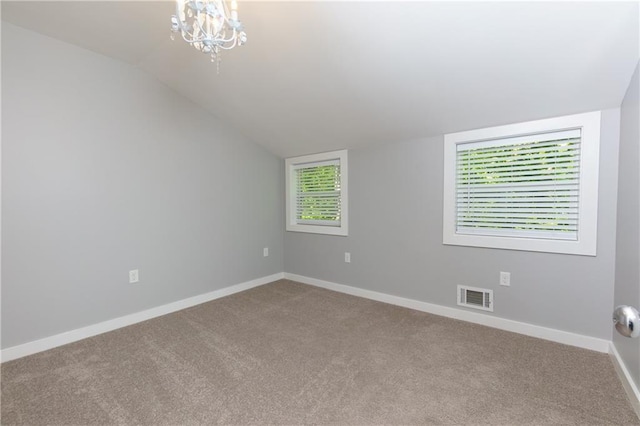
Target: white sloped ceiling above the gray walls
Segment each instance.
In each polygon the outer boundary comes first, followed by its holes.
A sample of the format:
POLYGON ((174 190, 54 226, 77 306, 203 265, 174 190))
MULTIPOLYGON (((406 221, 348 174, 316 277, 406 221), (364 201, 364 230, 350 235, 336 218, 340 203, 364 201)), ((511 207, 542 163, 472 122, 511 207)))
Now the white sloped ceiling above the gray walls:
MULTIPOLYGON (((283 156, 620 105, 638 2, 242 1, 249 41, 169 39, 173 2, 7 2, 2 19, 128 62, 283 156)), ((37 54, 37 52, 34 52, 37 54)))

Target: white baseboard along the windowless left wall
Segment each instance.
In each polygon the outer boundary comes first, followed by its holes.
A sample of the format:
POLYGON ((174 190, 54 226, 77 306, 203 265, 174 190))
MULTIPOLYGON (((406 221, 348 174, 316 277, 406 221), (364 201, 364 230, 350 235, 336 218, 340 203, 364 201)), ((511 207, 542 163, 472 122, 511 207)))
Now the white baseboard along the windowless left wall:
POLYGON ((53 349, 58 346, 66 345, 67 343, 77 342, 78 340, 86 339, 87 337, 96 336, 98 334, 106 333, 107 331, 112 331, 118 328, 126 327, 128 325, 146 321, 151 318, 190 308, 201 303, 209 302, 211 300, 229 296, 231 294, 248 290, 253 287, 268 284, 282 278, 284 278, 284 273, 279 272, 277 274, 257 278, 251 281, 246 281, 244 283, 221 288, 219 290, 189 297, 187 299, 178 300, 177 302, 168 303, 166 305, 147 309, 145 311, 136 312, 98 324, 93 324, 87 327, 78 328, 76 330, 67 331, 65 333, 56 334, 54 336, 45 337, 44 339, 34 340, 22 345, 6 348, 0 351, 0 360, 2 362, 11 361, 13 359, 22 358, 24 356, 46 351, 48 349, 53 349))

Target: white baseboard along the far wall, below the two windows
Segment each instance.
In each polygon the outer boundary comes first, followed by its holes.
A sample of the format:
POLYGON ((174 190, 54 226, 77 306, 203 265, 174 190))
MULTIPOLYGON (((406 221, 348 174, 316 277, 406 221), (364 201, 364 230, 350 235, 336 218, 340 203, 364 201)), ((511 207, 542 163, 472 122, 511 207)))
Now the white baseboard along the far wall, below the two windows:
POLYGON ((473 322, 476 324, 486 325, 488 327, 498 328, 500 330, 512 331, 514 333, 524 334, 527 336, 537 337, 544 340, 563 343, 565 345, 576 346, 579 348, 590 349, 602 353, 609 353, 610 341, 599 339, 597 337, 584 336, 582 334, 570 333, 567 331, 556 330, 553 328, 541 327, 538 325, 528 324, 499 318, 491 315, 468 312, 462 309, 451 308, 448 306, 435 305, 433 303, 420 302, 418 300, 406 299, 398 296, 391 296, 385 293, 379 293, 371 290, 364 290, 357 287, 351 287, 343 284, 336 284, 329 281, 323 281, 316 278, 309 278, 302 275, 290 274, 285 272, 284 277, 288 280, 297 281, 303 284, 310 284, 316 287, 326 288, 328 290, 338 291, 340 293, 350 294, 352 296, 364 297, 366 299, 376 300, 378 302, 389 303, 392 305, 403 306, 405 308, 415 309, 417 311, 428 312, 430 314, 440 315, 448 318, 454 318, 462 321, 473 322))

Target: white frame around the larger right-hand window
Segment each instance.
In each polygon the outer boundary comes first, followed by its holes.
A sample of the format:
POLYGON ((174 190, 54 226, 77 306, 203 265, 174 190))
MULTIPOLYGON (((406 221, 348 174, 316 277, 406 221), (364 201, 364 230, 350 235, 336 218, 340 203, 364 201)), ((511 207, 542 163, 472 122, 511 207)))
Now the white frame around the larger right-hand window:
POLYGON ((598 230, 600 111, 451 133, 444 136, 443 244, 595 256, 598 230), (581 129, 577 240, 469 235, 456 232, 458 144, 581 129))

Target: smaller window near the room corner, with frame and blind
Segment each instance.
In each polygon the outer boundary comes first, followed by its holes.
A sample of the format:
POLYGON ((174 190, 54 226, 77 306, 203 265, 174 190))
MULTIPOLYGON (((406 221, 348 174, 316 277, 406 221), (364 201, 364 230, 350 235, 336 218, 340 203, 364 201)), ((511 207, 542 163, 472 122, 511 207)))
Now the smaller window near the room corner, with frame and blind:
POLYGON ((287 231, 347 235, 347 151, 288 158, 287 231))

